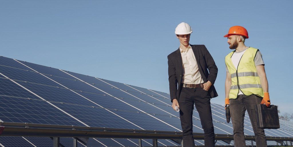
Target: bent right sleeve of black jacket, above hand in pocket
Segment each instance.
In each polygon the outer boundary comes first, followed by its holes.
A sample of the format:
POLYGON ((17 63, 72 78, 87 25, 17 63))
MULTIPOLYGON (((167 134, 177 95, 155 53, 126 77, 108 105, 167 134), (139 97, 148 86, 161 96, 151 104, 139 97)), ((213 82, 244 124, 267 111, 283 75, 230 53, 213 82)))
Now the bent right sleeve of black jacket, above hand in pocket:
POLYGON ((204 52, 205 52, 205 58, 206 58, 205 61, 207 63, 207 69, 209 69, 209 76, 207 77, 207 80, 210 81, 212 85, 214 85, 217 78, 217 74, 218 74, 218 68, 215 64, 213 57, 211 56, 211 54, 209 54, 209 51, 207 50, 205 46, 204 46, 204 52))

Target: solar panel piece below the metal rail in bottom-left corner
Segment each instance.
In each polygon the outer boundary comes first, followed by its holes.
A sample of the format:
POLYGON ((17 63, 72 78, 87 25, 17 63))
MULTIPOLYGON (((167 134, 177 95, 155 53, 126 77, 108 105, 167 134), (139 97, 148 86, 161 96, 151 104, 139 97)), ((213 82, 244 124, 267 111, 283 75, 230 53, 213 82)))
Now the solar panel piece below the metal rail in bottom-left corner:
POLYGON ((0 144, 4 147, 34 147, 23 137, 0 136, 0 144))

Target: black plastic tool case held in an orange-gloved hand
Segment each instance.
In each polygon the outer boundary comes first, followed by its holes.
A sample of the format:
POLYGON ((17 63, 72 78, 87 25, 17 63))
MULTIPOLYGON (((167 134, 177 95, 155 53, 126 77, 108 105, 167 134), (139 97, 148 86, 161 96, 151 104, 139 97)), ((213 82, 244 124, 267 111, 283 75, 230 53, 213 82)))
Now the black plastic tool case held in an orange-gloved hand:
POLYGON ((260 129, 280 128, 278 109, 275 105, 267 107, 263 104, 255 105, 256 124, 260 129))

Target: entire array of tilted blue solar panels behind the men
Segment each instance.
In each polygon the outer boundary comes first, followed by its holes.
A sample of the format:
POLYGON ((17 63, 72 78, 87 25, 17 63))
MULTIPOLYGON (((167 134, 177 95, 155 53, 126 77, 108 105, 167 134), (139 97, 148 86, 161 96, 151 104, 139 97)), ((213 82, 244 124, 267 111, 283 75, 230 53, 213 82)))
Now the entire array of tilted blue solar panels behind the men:
MULTIPOLYGON (((222 105, 211 104, 216 134, 233 134, 222 105)), ((113 82, 25 61, 0 57, 0 122, 54 124, 181 131, 179 113, 167 93, 113 82)), ((280 129, 266 129, 266 136, 293 137, 293 124, 280 120, 280 129)), ((193 132, 203 133, 196 109, 193 132)), ((250 119, 244 119, 245 135, 254 135, 250 119)), ((158 140, 159 146, 179 146, 158 140)), ((61 138, 72 146, 72 138, 61 138)), ((86 146, 138 146, 137 139, 89 139, 86 146)), ((204 145, 203 140, 195 140, 204 145)), ((247 141, 247 144, 251 144, 247 141)), ((268 141, 268 145, 275 145, 268 141)), ((143 146, 152 146, 143 139, 143 146)), ((216 145, 233 145, 217 141, 216 145)), ((0 137, 0 146, 52 146, 48 137, 0 137)), ((81 143, 78 146, 85 146, 81 143)))

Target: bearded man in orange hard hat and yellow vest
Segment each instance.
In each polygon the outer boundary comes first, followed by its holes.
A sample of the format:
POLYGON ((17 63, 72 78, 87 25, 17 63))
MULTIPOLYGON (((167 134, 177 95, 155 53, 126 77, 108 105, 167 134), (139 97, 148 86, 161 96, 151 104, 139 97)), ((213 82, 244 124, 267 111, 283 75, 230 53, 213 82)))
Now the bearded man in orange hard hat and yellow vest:
POLYGON ((257 127, 255 115, 255 105, 270 106, 268 80, 262 54, 258 49, 244 44, 248 32, 241 26, 231 27, 224 37, 228 38, 229 48, 235 49, 225 57, 225 105, 230 105, 234 146, 246 146, 243 121, 247 110, 255 134, 256 146, 266 147, 265 131, 257 127))

